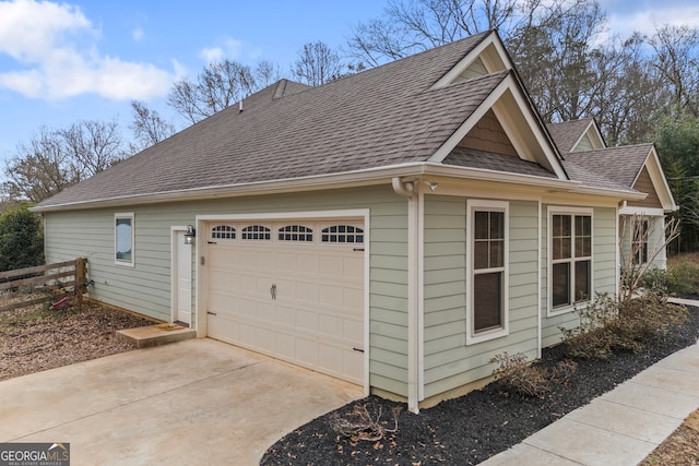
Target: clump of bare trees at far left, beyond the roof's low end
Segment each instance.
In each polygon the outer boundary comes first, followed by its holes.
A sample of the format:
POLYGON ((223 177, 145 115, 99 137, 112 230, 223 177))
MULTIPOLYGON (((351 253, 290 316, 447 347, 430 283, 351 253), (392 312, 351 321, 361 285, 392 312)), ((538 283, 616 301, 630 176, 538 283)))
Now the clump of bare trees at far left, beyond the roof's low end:
POLYGON ((118 162, 123 155, 116 122, 82 121, 46 127, 17 145, 7 163, 4 191, 33 203, 50 198, 118 162))

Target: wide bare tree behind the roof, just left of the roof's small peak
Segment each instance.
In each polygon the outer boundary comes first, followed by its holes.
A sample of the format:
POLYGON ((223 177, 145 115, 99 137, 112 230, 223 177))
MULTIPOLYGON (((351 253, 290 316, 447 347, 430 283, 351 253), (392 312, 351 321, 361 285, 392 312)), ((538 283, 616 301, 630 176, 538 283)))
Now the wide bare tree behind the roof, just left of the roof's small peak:
POLYGON ((167 103, 196 123, 211 117, 258 89, 250 67, 224 60, 209 64, 197 81, 183 77, 173 85, 167 103))

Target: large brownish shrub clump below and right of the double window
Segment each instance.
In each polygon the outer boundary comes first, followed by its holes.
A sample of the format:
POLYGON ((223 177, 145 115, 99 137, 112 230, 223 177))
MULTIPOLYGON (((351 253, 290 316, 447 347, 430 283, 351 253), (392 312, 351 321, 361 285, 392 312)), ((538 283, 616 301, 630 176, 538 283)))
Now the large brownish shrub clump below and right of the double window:
POLYGON ((668 304, 662 295, 651 291, 621 303, 599 295, 577 312, 580 325, 561 332, 566 355, 582 359, 607 359, 615 350, 638 351, 688 315, 686 308, 668 304))

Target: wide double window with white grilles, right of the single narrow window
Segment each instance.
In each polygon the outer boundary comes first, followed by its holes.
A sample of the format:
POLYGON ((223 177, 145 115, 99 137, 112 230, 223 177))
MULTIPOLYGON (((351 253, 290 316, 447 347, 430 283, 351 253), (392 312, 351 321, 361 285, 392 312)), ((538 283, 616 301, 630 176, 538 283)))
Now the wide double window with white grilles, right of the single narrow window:
POLYGON ((549 225, 550 307, 556 311, 592 296, 592 215, 550 212, 549 225))

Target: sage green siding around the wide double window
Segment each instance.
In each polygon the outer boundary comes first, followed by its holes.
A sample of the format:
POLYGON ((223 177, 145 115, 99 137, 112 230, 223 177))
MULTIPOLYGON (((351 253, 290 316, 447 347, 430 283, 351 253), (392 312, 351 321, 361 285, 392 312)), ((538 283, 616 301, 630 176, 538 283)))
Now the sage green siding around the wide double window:
MULTIPOLYGON (((548 347, 560 343, 560 327, 570 328, 579 324, 573 309, 557 315, 547 315, 548 310, 548 218, 546 206, 542 210, 542 346, 548 347)), ((606 292, 616 295, 618 270, 616 266, 616 210, 596 207, 592 213, 592 278, 593 295, 606 292)))

